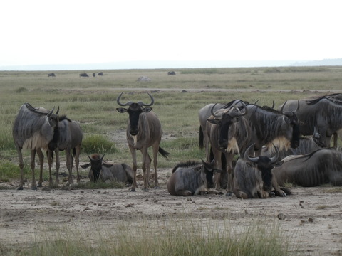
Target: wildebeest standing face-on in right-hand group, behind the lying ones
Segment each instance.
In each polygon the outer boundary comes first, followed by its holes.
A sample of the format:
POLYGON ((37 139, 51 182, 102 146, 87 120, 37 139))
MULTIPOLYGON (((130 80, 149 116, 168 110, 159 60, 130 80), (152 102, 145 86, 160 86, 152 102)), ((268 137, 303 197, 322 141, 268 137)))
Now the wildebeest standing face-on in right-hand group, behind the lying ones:
MULTIPOLYGON (((242 104, 242 110, 238 107, 232 107, 230 109, 219 109, 214 112, 214 106, 212 106, 211 114, 207 119, 206 131, 209 137, 209 142, 212 147, 212 154, 215 160, 214 166, 216 169, 222 169, 222 154, 225 157, 227 163, 227 194, 230 195, 233 189, 233 177, 232 177, 232 161, 234 154, 242 154, 249 145, 251 129, 249 123, 244 118, 247 114, 247 107, 242 104)), ((219 189, 221 186, 221 175, 215 174, 215 188, 219 189)))

